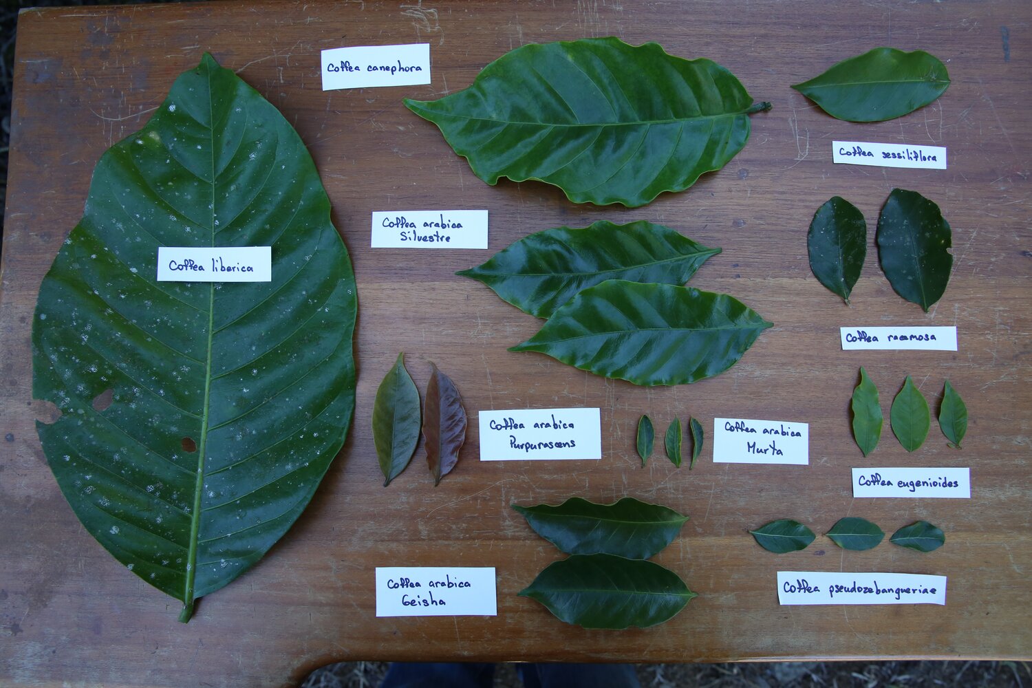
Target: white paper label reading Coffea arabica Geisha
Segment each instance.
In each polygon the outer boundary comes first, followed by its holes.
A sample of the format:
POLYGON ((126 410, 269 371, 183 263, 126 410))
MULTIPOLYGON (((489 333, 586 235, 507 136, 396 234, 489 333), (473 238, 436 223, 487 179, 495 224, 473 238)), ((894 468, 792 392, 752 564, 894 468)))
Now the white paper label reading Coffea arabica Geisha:
POLYGON ((377 566, 378 617, 497 616, 494 568, 377 566))

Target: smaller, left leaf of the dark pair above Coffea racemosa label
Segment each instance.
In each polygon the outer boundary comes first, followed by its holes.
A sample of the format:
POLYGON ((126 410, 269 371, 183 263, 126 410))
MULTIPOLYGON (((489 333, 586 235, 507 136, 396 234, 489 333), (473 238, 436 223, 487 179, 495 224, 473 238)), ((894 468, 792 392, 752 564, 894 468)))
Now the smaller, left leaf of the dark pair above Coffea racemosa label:
POLYGON ((806 249, 813 276, 848 303, 867 256, 864 214, 844 198, 832 196, 813 214, 806 249))

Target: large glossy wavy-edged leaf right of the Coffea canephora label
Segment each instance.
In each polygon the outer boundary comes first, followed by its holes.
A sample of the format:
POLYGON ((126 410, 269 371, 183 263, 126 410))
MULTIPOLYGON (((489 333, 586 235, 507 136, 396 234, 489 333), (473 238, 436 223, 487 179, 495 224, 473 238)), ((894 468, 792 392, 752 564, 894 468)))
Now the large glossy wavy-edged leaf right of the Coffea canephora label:
POLYGON ((770 108, 715 62, 614 37, 523 45, 463 91, 405 104, 487 184, 539 179, 575 203, 632 207, 723 167, 749 113, 770 108))

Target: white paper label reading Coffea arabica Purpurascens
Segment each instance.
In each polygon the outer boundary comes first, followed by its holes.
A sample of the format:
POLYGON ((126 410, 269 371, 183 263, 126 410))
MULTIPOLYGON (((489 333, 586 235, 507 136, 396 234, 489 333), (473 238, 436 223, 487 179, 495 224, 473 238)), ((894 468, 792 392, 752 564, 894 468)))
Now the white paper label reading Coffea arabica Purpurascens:
POLYGON ((482 411, 481 461, 602 458, 598 408, 482 411))

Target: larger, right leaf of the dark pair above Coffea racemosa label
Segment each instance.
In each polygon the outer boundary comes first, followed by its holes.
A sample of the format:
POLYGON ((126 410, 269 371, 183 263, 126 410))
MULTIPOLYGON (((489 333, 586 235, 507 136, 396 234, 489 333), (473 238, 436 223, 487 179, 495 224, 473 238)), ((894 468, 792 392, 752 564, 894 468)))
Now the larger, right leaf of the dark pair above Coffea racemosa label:
POLYGON ((954 265, 953 233, 939 206, 915 191, 893 189, 875 240, 889 284, 927 313, 946 291, 954 265))

